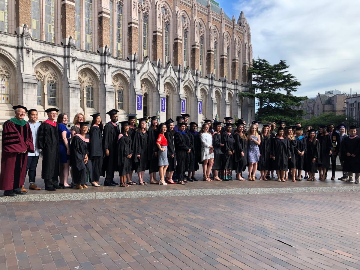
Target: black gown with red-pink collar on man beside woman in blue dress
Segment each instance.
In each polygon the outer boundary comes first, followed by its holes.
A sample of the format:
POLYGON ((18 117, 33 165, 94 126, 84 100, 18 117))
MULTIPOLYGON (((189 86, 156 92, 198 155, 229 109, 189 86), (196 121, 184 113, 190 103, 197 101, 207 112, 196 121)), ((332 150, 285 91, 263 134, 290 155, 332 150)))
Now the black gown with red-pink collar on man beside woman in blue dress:
POLYGON ((42 150, 41 178, 48 180, 59 176, 60 145, 58 124, 51 126, 41 123, 38 137, 39 149, 42 150))

